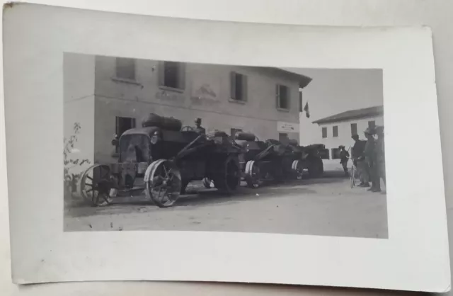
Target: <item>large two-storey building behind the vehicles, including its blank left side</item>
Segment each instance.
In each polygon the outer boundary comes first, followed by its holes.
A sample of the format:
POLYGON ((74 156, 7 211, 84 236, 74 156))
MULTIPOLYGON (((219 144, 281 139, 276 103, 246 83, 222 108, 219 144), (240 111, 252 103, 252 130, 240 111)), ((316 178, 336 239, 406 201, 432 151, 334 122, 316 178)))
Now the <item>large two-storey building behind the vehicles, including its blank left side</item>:
POLYGON ((260 140, 299 140, 302 88, 311 79, 282 69, 64 56, 65 136, 81 124, 78 147, 93 162, 116 161, 115 135, 149 113, 207 132, 253 132, 260 140))

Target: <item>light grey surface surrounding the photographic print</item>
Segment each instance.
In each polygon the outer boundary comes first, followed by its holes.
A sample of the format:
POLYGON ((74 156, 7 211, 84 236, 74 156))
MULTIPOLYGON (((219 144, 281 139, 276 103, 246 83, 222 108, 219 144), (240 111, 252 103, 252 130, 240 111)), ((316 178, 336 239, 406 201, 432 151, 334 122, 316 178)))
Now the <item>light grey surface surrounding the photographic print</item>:
MULTIPOLYGON (((162 16, 210 18, 225 21, 264 23, 293 23, 310 25, 430 25, 434 34, 437 93, 442 132, 442 154, 445 163, 445 186, 449 224, 453 222, 453 157, 449 155, 453 135, 447 134, 449 110, 453 102, 453 3, 451 0, 192 0, 187 1, 33 1, 35 3, 98 8, 110 11, 146 13, 162 16), (105 3, 104 3, 105 2, 105 3), (141 4, 134 6, 134 2, 141 4), (189 3, 190 2, 190 3, 189 3), (281 4, 280 4, 281 3, 281 4), (109 8, 110 7, 110 8, 109 8), (240 7, 240 8, 238 8, 240 7)), ((3 108, 3 106, 1 106, 3 108)), ((420 119, 423 115, 420 115, 420 119)), ((3 125, 3 123, 2 123, 3 125)), ((2 126, 3 128, 3 126, 2 126)), ((425 143, 424 143, 425 144, 425 143)), ((4 149, 4 143, 1 143, 4 149)), ((429 148, 429 147, 428 147, 429 148)), ((1 155, 4 155, 1 153, 1 155)), ((1 159, 1 166, 4 159, 1 159)), ((334 290, 328 288, 295 288, 270 285, 195 284, 195 283, 74 283, 36 285, 20 289, 11 285, 8 266, 8 216, 6 191, 2 193, 0 208, 0 256, 2 294, 17 295, 379 295, 364 290, 334 290)), ((423 219, 423 217, 420 217, 423 219)), ((450 225, 453 228, 453 224, 450 225)), ((450 234, 453 235, 452 230, 450 234)), ((435 246, 432 246, 435 248, 435 246)), ((391 268, 389 266, 389 268, 391 268)), ((381 292, 389 295, 388 291, 381 292)), ((398 293, 401 294, 401 293, 398 293)), ((394 294, 394 295, 398 295, 394 294)), ((406 295, 406 293, 402 293, 406 295)), ((452 293, 453 295, 453 293, 452 293)))

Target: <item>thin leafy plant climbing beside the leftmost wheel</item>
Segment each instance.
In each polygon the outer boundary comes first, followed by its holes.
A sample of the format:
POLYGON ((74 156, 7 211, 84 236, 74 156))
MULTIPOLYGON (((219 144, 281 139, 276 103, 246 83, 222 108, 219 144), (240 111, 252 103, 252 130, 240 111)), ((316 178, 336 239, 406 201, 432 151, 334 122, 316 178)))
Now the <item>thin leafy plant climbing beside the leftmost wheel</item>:
POLYGON ((82 166, 84 164, 91 164, 88 159, 72 159, 70 154, 74 149, 74 144, 77 142, 77 135, 79 135, 81 129, 80 123, 74 123, 73 135, 71 137, 64 137, 64 150, 63 150, 63 164, 64 164, 64 189, 67 193, 73 193, 76 191, 77 182, 81 176, 81 173, 70 173, 70 169, 75 166, 82 166))

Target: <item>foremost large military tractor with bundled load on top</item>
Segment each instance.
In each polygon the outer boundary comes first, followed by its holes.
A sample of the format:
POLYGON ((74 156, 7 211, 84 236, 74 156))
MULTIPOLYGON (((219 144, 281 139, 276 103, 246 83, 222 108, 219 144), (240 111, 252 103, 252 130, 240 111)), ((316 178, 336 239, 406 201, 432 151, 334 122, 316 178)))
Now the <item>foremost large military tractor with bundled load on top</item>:
POLYGON ((172 206, 190 181, 209 178, 221 193, 234 193, 241 181, 238 147, 224 132, 200 135, 175 118, 151 114, 142 127, 118 140, 115 164, 95 164, 81 176, 79 191, 93 206, 118 195, 144 190, 159 207, 172 206))

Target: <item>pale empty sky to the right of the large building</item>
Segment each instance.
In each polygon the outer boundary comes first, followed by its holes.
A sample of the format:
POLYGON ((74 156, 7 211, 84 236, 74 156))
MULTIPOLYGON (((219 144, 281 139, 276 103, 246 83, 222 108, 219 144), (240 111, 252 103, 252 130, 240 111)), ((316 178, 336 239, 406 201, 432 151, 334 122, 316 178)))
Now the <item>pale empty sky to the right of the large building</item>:
POLYGON ((300 142, 319 142, 319 126, 313 124, 348 110, 382 106, 381 69, 288 69, 313 80, 303 91, 303 105, 308 101, 310 118, 300 114, 300 142))

